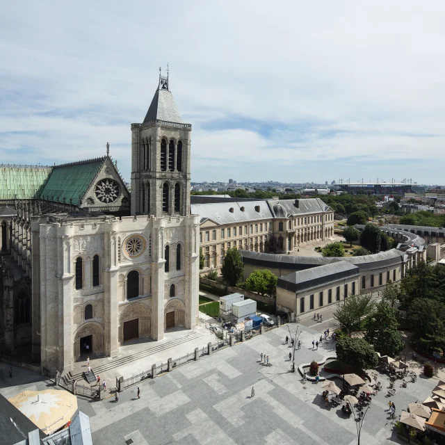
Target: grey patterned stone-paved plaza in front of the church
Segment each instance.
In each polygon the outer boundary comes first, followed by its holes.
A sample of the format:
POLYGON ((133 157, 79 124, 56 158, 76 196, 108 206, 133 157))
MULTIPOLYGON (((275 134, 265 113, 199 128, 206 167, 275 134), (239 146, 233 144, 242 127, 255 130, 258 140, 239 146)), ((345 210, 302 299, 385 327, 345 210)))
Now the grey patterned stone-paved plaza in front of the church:
MULTIPOLYGON (((356 444, 353 417, 343 416, 340 407, 325 407, 321 384, 302 382, 298 373, 289 372, 291 348, 284 344, 288 326, 295 332, 296 324, 284 325, 147 380, 140 385, 140 399, 137 386, 122 392, 118 403, 112 394, 100 402, 79 398, 79 409, 90 416, 93 444, 126 445, 129 439, 134 445, 356 444), (259 363, 261 353, 269 356, 270 366, 259 363)), ((333 354, 334 343, 329 340, 312 350, 312 339, 319 338, 319 329, 298 325, 300 329, 302 347, 296 351, 296 365, 333 354)), ((14 371, 6 385, 0 381, 4 396, 47 388, 39 375, 24 369, 14 371), (10 382, 15 386, 8 387, 10 382)), ((361 443, 399 443, 385 412, 387 378, 378 380, 384 390, 373 397, 361 443)), ((421 402, 429 396, 437 379, 419 376, 407 388, 399 388, 398 382, 396 396, 391 398, 397 415, 406 410, 408 402, 421 402)))

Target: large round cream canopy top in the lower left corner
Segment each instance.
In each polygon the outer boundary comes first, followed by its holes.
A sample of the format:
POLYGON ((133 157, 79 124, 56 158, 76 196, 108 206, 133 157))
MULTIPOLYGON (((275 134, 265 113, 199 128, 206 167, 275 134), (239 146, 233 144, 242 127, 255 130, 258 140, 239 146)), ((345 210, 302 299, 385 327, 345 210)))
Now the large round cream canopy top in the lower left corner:
POLYGON ((77 399, 68 391, 23 391, 9 399, 35 426, 49 435, 71 421, 77 399))

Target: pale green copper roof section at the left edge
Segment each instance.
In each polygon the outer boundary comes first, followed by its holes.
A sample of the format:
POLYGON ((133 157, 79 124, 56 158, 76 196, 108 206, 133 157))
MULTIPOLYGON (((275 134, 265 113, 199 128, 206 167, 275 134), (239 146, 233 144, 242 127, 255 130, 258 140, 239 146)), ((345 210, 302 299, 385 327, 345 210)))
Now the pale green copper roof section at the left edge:
POLYGON ((0 164, 0 200, 29 200, 38 195, 52 167, 0 164))

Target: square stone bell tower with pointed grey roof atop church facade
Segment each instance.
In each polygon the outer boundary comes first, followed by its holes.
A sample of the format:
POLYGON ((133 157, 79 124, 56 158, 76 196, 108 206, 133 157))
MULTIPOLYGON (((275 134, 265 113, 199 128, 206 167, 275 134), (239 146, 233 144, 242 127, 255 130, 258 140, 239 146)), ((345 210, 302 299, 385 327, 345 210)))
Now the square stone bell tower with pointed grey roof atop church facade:
POLYGON ((131 124, 131 215, 190 214, 191 124, 185 124, 159 74, 142 124, 131 124))

